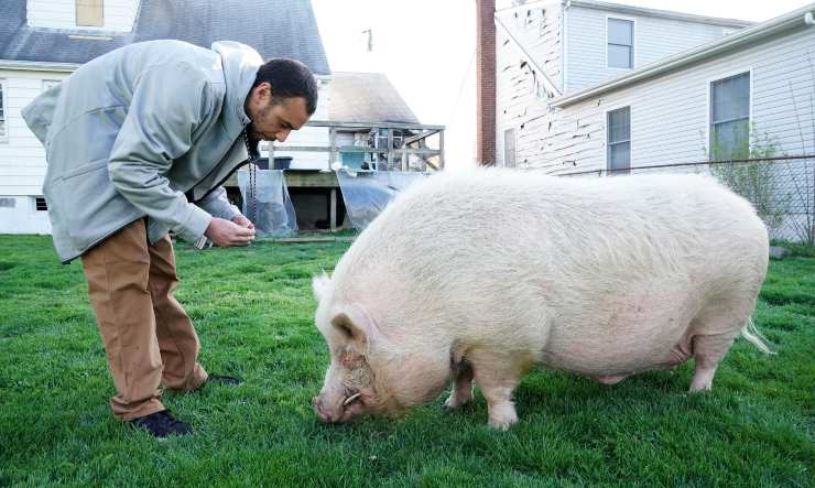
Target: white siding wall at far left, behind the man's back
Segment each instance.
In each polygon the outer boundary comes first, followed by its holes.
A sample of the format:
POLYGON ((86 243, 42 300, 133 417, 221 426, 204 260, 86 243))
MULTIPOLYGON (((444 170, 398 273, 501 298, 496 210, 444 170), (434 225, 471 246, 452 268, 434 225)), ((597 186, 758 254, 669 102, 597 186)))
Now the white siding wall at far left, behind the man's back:
POLYGON ((36 210, 45 176, 45 151, 20 111, 43 91, 43 80, 61 80, 66 73, 0 69, 8 116, 8 138, 0 139, 0 232, 47 234, 47 213, 36 210))

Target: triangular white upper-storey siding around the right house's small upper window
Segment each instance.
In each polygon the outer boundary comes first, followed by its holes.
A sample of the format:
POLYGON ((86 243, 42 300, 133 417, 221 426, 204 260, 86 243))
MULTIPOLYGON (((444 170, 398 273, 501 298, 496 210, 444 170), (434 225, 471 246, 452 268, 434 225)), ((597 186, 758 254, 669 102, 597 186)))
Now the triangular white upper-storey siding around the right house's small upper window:
POLYGON ((566 93, 578 91, 630 69, 609 68, 606 62, 607 19, 634 21, 634 69, 672 54, 717 41, 734 28, 645 15, 619 14, 610 10, 572 7, 566 10, 566 93))

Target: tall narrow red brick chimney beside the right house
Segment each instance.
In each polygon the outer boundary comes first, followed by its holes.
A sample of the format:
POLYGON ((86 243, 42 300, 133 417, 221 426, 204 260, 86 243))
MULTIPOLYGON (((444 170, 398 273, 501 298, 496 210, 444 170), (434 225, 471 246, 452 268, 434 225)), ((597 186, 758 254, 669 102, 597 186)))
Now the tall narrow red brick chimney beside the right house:
POLYGON ((496 0, 476 0, 476 162, 496 164, 496 0))

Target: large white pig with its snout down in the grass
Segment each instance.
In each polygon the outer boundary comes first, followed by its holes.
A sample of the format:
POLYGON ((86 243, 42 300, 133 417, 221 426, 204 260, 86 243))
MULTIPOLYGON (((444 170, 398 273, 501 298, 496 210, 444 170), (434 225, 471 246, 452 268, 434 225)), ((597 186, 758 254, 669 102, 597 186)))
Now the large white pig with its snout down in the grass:
POLYGON ((710 389, 749 332, 768 264, 751 205, 711 178, 438 174, 400 195, 316 276, 330 366, 326 422, 394 414, 453 381, 489 423, 518 421, 512 390, 535 364, 616 383, 695 360, 710 389))

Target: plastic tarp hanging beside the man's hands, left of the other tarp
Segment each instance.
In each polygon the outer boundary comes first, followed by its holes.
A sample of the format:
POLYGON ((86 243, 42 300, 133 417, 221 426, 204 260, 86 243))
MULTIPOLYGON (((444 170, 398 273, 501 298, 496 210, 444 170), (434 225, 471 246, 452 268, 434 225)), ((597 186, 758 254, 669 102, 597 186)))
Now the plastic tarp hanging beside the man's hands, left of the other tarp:
POLYGON ((256 170, 254 205, 248 195, 249 171, 238 171, 238 186, 243 199, 243 215, 254 224, 259 237, 284 237, 297 231, 294 205, 289 197, 285 177, 281 170, 256 170))

